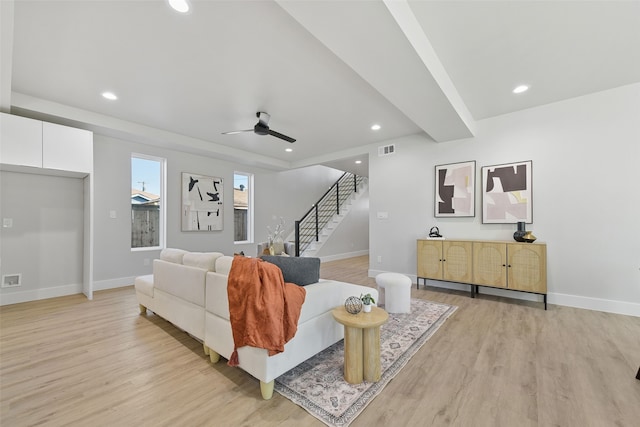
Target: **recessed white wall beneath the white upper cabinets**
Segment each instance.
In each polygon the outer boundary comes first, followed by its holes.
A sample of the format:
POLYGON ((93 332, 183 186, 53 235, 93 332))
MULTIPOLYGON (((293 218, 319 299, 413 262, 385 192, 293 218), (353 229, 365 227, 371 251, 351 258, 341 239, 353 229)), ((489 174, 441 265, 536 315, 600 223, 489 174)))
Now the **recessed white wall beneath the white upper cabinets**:
POLYGON ((82 292, 84 181, 0 172, 1 274, 21 274, 22 286, 2 288, 2 304, 82 292))

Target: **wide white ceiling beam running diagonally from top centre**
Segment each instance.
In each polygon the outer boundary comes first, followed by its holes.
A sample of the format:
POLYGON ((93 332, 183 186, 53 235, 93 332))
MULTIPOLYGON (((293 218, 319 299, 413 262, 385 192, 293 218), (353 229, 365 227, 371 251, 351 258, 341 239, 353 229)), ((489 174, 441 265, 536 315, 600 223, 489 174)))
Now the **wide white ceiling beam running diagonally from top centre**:
POLYGON ((276 1, 432 139, 473 136, 471 115, 406 2, 276 1))

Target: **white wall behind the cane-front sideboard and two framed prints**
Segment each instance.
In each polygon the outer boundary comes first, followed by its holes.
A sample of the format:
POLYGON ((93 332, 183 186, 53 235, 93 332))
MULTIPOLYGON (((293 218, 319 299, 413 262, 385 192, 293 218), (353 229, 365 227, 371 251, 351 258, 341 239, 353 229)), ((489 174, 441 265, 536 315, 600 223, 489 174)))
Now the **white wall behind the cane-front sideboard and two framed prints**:
POLYGON ((374 148, 369 159, 371 275, 415 279, 415 239, 432 226, 448 238, 512 239, 515 225, 482 224, 480 170, 532 160, 527 229, 547 243, 549 302, 640 315, 640 84, 481 120, 470 139, 389 142, 396 154, 374 148), (467 160, 476 217, 436 219, 434 166, 467 160))

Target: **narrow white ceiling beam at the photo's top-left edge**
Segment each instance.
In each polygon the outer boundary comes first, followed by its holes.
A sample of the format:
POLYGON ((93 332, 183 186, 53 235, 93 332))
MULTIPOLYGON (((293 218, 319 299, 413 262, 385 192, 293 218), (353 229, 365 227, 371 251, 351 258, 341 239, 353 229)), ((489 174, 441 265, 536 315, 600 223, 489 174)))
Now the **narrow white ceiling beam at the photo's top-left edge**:
POLYGON ((0 111, 11 112, 13 68, 13 0, 0 1, 0 111))

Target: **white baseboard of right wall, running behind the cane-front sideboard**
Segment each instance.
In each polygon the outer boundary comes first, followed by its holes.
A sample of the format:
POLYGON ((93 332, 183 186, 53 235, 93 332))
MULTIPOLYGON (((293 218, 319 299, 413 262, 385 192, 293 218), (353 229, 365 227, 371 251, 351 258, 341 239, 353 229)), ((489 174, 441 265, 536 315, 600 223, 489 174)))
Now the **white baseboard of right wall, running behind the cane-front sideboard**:
MULTIPOLYGON (((384 270, 369 270, 369 277, 376 277, 380 273, 387 273, 384 270)), ((416 283, 417 277, 415 274, 407 274, 411 279, 412 283, 416 283)), ((420 280, 420 284, 423 284, 423 281, 420 280)), ((465 285, 463 283, 455 283, 455 282, 442 282, 440 280, 428 280, 427 285, 433 286, 436 288, 444 288, 444 289, 453 289, 458 291, 466 291, 469 292, 469 285, 465 285)), ((517 291, 509 291, 506 289, 496 289, 481 286, 480 293, 487 295, 494 295, 499 297, 507 297, 520 299, 525 301, 538 301, 542 302, 543 297, 537 294, 530 294, 526 292, 517 292, 517 291)), ((607 300, 602 298, 590 298, 583 297, 580 295, 567 295, 560 294, 555 292, 547 293, 547 303, 555 304, 555 305, 563 305, 566 307, 575 307, 575 308, 583 308, 586 310, 595 310, 595 311, 604 311, 607 313, 615 313, 615 314, 623 314, 625 316, 635 316, 640 317, 640 304, 633 302, 625 302, 625 301, 615 301, 615 300, 607 300)))

